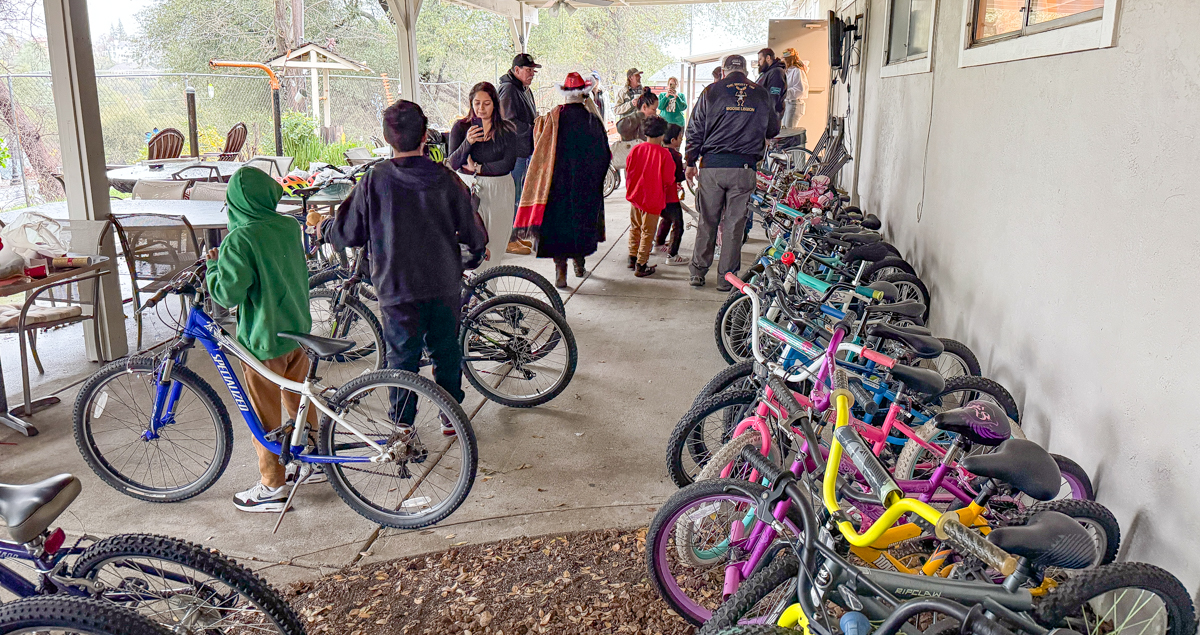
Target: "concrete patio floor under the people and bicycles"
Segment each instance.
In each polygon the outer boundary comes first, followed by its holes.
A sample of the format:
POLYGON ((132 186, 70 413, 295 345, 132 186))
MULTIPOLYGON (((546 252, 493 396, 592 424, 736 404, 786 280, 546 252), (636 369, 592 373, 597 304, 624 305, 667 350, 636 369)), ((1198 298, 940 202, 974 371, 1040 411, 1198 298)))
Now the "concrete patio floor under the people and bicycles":
MULTIPOLYGON (((464 407, 475 413, 480 473, 466 503, 437 527, 380 531, 342 504, 328 485, 316 485, 298 492, 295 510, 272 535, 274 515, 240 514, 230 503, 234 492, 258 478, 250 433, 240 420, 234 421, 233 460, 209 491, 168 504, 121 495, 92 474, 74 445, 71 412, 78 385, 68 384, 96 369, 82 360, 78 328, 43 337, 48 372, 36 382, 42 391, 35 394, 59 390, 62 403, 31 419, 41 429, 37 437, 0 429, 0 483, 71 472, 83 480, 84 491, 61 519, 68 534, 173 535, 220 549, 278 583, 355 559, 391 559, 456 543, 644 525, 674 491, 664 465, 671 429, 696 391, 724 367, 713 342, 713 319, 725 295, 715 290, 712 272, 707 287, 689 287, 686 266, 660 265, 653 277, 634 277, 625 268, 628 210, 622 190, 608 197, 608 241, 589 258, 587 278, 570 278, 566 317, 580 347, 570 387, 546 406, 529 409, 505 408, 468 393, 464 407)), ((694 235, 689 230, 684 236, 685 256, 694 235)), ((748 244, 746 257, 761 246, 748 244)), ((508 258, 552 277, 550 260, 508 258)), ((160 331, 161 325, 155 329, 160 331)), ((14 399, 20 385, 16 346, 0 341, 14 399)), ((220 387, 210 364, 193 369, 220 387)), ((218 393, 236 412, 228 393, 218 393)))

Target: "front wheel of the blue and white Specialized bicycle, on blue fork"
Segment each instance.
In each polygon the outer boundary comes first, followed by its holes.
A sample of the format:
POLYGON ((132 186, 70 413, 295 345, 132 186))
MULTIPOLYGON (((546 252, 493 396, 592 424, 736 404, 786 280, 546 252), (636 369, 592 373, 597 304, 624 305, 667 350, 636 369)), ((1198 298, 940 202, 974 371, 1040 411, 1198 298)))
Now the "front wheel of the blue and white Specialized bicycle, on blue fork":
POLYGON ((172 370, 162 424, 150 431, 157 363, 137 357, 107 364, 79 389, 76 445, 104 483, 133 498, 172 503, 221 478, 233 453, 233 425, 212 387, 188 370, 172 370))

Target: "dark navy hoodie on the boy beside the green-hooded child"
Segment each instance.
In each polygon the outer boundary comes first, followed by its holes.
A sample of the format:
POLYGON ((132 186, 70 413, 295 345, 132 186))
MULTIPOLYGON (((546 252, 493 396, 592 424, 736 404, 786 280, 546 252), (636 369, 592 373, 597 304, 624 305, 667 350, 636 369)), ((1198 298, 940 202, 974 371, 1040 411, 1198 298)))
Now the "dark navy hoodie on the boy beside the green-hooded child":
POLYGON ((457 296, 463 270, 458 245, 466 245, 474 263, 484 259, 487 246, 467 186, 424 156, 373 167, 322 233, 337 248, 368 248, 371 283, 385 306, 457 296))

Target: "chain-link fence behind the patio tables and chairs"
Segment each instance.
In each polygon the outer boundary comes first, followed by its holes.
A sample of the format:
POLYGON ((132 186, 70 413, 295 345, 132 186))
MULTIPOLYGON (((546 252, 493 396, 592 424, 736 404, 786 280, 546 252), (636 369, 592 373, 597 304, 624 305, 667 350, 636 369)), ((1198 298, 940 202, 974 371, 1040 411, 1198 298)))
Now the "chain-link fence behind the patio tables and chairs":
MULTIPOLYGON (((322 92, 326 90, 324 80, 322 92)), ((312 118, 310 76, 287 74, 281 84, 284 119, 312 118)), ((271 89, 263 74, 98 73, 106 162, 121 166, 144 160, 146 140, 155 130, 173 127, 186 138, 188 86, 196 90, 200 152, 221 151, 229 128, 245 122, 248 134, 242 156, 275 154, 271 89)), ((332 150, 320 156, 340 155, 353 145, 373 148, 383 137, 383 109, 398 98, 398 86, 395 78, 331 73, 329 128, 324 128, 325 95, 317 96, 314 128, 323 137, 317 144, 332 150)), ((430 125, 449 130, 467 112, 468 88, 461 82, 420 84, 419 100, 430 125)), ((0 76, 0 140, 11 155, 0 168, 0 210, 62 198, 54 176, 61 169, 61 157, 48 73, 0 76)))

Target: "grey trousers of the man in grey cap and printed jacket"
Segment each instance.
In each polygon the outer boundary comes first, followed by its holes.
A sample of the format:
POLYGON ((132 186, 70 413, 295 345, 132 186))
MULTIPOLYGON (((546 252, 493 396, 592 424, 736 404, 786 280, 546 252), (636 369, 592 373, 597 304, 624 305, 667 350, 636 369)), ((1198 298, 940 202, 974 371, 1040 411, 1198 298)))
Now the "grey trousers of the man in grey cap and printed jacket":
POLYGON ((721 262, 716 264, 716 283, 722 284, 725 274, 734 274, 742 268, 742 239, 745 236, 746 214, 750 194, 755 188, 755 174, 750 168, 700 168, 700 188, 696 191, 696 208, 700 227, 696 229, 696 246, 691 251, 691 275, 704 276, 713 265, 716 247, 716 229, 720 227, 721 262))

